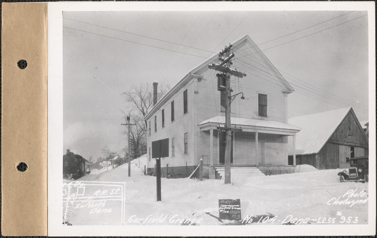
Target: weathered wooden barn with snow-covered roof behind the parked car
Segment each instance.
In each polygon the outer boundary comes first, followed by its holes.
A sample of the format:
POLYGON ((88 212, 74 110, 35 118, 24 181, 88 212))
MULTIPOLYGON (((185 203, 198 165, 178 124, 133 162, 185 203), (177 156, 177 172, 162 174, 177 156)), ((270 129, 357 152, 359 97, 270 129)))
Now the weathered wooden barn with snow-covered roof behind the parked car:
MULTIPOLYGON (((297 165, 307 164, 317 169, 346 168, 347 158, 368 153, 368 137, 352 108, 293 117, 288 122, 301 128, 296 136, 297 165)), ((293 164, 292 148, 288 160, 293 164)))

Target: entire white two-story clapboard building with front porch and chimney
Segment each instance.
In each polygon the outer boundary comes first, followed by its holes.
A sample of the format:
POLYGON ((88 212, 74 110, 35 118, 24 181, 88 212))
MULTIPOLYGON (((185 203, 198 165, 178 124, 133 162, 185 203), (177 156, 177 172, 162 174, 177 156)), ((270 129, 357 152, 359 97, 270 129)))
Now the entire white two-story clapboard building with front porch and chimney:
MULTIPOLYGON (((232 67, 247 76, 231 78, 232 95, 243 92, 245 96, 242 100, 239 95, 231 104, 231 127, 242 129, 230 141, 231 166, 250 166, 264 174, 294 172, 287 151, 287 137, 300 130, 287 123, 287 96, 294 90, 247 35, 232 45, 237 62, 232 67)), ((216 54, 191 70, 158 102, 157 82, 153 83, 155 105, 144 117, 148 171, 156 163, 152 141, 166 138, 169 157, 161 159, 162 172, 168 163, 169 173, 185 177, 203 159, 211 177, 214 169, 224 166, 225 132, 216 128, 225 123, 224 91, 218 91, 216 71, 208 68, 217 61, 216 54)))

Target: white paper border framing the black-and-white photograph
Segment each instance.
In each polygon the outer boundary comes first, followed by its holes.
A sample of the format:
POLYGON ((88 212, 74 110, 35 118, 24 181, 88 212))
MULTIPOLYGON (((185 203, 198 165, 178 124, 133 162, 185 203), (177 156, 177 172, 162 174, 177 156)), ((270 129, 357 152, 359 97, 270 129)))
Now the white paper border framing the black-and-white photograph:
MULTIPOLYGON (((48 235, 49 236, 350 236, 375 232, 375 192, 369 193, 368 224, 311 226, 62 226, 63 11, 368 11, 369 121, 375 121, 374 2, 48 2, 48 235)), ((369 150, 375 151, 375 123, 369 150)), ((375 168, 375 154, 369 155, 375 168)), ((372 170, 373 171, 373 170, 372 170)), ((375 173, 369 191, 375 191, 375 173)))

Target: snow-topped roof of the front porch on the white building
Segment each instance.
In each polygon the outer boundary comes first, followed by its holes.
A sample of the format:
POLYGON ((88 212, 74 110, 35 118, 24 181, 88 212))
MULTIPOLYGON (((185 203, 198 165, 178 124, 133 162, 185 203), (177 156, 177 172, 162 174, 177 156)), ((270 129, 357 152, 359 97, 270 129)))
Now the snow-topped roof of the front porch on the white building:
MULTIPOLYGON (((201 131, 216 129, 218 124, 225 124, 225 116, 215 116, 199 124, 201 131)), ((230 117, 231 127, 241 128, 242 131, 260 132, 268 134, 294 135, 301 129, 291 124, 276 121, 230 117)), ((221 125, 224 126, 224 125, 221 125)))

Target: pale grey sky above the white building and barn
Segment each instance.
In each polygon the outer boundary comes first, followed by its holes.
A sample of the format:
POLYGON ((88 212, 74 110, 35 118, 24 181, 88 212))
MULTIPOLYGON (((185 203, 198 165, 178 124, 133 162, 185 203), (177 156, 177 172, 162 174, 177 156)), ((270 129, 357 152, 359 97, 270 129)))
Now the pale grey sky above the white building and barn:
MULTIPOLYGON (((175 85, 244 35, 294 88, 288 117, 352 107, 368 120, 366 11, 63 12, 63 149, 126 147, 121 92, 175 85), (318 32, 318 33, 317 33, 318 32), (213 52, 213 53, 211 53, 213 52), (96 76, 96 77, 94 77, 96 76)), ((237 59, 237 56, 234 57, 237 59)))

